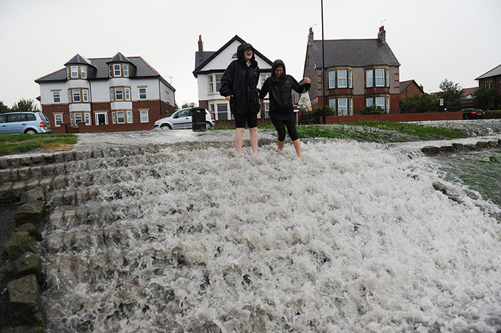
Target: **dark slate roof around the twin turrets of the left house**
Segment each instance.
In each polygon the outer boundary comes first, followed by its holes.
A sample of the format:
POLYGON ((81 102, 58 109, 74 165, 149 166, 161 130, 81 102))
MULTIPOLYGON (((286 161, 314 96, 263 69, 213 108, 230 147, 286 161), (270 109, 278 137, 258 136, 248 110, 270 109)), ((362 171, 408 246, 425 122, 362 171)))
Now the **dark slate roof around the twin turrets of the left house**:
MULTIPOLYGON (((75 57, 74 57, 75 58, 75 57)), ((82 57, 83 58, 83 57, 82 57)), ((126 58, 126 57, 124 57, 126 58)), ((93 80, 93 79, 108 79, 108 62, 110 62, 112 58, 90 58, 87 59, 90 62, 92 62, 93 67, 96 68, 96 70, 89 71, 87 74, 87 80, 93 80)), ((133 71, 130 71, 129 77, 130 78, 148 78, 148 77, 158 77, 160 80, 162 80, 163 83, 165 83, 168 87, 173 89, 173 91, 176 91, 168 82, 165 80, 159 73, 158 71, 155 71, 153 67, 151 67, 148 62, 146 62, 142 57, 128 57, 126 58, 130 64, 132 64, 135 68, 133 71)), ((70 60, 71 61, 71 60, 70 60)), ((67 62, 68 63, 75 63, 75 62, 67 62)), ((51 74, 47 74, 45 76, 42 76, 41 78, 37 78, 35 80, 36 83, 42 83, 42 82, 51 82, 51 81, 65 81, 67 80, 66 78, 66 68, 59 69, 58 71, 54 71, 51 74)))

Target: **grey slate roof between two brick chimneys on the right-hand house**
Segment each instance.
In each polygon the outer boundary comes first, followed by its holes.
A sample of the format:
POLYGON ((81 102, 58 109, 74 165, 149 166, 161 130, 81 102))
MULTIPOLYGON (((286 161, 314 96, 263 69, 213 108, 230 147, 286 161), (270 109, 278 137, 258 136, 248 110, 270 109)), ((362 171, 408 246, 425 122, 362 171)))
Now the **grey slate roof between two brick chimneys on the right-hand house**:
MULTIPOLYGON (((387 43, 380 40, 324 40, 325 67, 400 66, 387 43)), ((322 68, 322 41, 308 43, 316 68, 322 68)))

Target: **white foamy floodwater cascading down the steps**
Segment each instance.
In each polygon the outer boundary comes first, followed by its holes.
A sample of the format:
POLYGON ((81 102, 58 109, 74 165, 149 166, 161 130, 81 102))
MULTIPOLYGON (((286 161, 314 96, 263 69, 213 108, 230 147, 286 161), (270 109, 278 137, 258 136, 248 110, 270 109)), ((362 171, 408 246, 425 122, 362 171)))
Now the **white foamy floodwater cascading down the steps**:
POLYGON ((48 331, 501 327, 500 210, 436 191, 429 158, 346 141, 303 144, 305 165, 290 144, 233 150, 103 170, 119 175, 99 189, 118 221, 45 235, 48 331))

